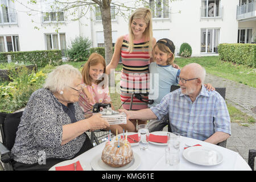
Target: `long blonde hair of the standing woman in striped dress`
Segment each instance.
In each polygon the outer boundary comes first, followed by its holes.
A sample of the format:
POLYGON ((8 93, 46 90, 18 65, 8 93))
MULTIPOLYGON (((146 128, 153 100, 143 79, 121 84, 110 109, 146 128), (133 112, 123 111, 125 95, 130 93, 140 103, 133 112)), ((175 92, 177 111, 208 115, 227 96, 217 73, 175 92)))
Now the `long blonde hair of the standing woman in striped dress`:
POLYGON ((152 40, 153 40, 153 31, 152 31, 152 15, 150 9, 141 7, 139 9, 136 9, 134 13, 130 16, 129 19, 129 47, 128 51, 131 53, 133 52, 134 47, 134 34, 133 30, 131 30, 131 23, 133 22, 133 19, 143 19, 144 22, 147 24, 147 27, 145 31, 143 32, 144 38, 146 38, 146 42, 148 41, 148 48, 149 52, 152 51, 152 40))

